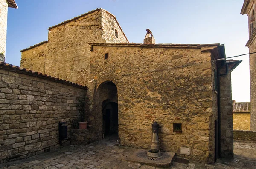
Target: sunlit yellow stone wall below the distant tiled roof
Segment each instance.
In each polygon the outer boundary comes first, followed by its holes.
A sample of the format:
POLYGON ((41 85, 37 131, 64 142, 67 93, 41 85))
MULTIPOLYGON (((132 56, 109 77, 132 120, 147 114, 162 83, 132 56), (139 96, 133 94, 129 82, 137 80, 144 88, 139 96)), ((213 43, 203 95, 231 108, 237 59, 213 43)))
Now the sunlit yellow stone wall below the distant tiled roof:
POLYGON ((250 130, 250 113, 233 113, 234 130, 250 130))

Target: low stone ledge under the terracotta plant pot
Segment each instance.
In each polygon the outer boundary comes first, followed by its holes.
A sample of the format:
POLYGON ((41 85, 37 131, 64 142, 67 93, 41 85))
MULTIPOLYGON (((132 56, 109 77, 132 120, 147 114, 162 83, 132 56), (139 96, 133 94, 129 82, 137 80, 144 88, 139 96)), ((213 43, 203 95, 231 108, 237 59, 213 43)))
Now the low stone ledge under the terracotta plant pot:
POLYGON ((93 127, 89 129, 72 129, 71 131, 71 144, 73 145, 87 145, 97 140, 101 140, 101 138, 96 137, 93 127))

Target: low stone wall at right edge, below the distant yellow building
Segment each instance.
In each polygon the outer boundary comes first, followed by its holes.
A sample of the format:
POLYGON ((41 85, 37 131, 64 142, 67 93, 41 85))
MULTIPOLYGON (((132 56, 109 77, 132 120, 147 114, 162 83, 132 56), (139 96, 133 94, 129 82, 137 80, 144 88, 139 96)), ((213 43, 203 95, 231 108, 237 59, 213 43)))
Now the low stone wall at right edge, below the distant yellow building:
POLYGON ((256 131, 234 130, 233 134, 235 141, 246 140, 256 142, 256 131))

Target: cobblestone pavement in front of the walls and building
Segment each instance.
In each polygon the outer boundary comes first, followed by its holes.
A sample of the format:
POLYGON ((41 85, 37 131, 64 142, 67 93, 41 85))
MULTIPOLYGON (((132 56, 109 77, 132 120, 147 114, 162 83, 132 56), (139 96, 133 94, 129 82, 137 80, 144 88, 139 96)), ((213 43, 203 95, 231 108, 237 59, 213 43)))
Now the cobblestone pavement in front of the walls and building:
MULTIPOLYGON (((235 158, 218 160, 215 165, 195 161, 173 162, 169 169, 256 169, 256 143, 235 142, 235 158)), ((115 140, 102 140, 87 146, 65 146, 25 160, 1 164, 4 169, 159 169, 121 160, 135 148, 117 146, 115 140), (8 166, 7 166, 8 165, 8 166)))

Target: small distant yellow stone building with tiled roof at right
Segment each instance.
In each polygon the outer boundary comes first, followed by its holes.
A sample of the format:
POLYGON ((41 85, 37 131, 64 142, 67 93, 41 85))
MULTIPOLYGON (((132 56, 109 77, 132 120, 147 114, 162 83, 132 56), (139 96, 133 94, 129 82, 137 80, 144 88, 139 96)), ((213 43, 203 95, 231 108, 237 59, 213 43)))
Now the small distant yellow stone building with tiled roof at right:
POLYGON ((250 130, 250 102, 233 100, 233 129, 250 130))

